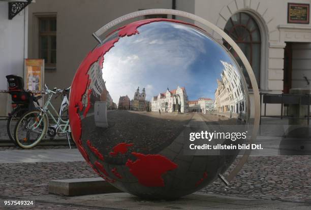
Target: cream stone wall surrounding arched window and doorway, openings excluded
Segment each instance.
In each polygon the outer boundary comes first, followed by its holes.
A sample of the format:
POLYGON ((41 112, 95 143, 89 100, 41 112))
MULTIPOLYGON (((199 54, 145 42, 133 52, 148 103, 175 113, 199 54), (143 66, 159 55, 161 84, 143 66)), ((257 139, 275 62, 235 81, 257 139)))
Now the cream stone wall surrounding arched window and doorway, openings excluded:
MULTIPOLYGON (((285 42, 311 42, 310 24, 287 23, 288 3, 310 4, 310 1, 223 0, 210 4, 208 1, 196 0, 195 14, 207 19, 221 29, 224 29, 229 18, 235 13, 246 12, 252 15, 261 30, 261 92, 282 93, 285 42)), ((215 39, 222 42, 220 36, 217 36, 217 34, 214 34, 211 30, 207 31, 211 33, 215 39)), ((302 68, 305 69, 305 74, 309 75, 311 69, 306 67, 309 65, 309 61, 300 63, 300 65, 303 65, 302 68)), ((293 71, 293 74, 296 74, 296 72, 293 71)), ((294 84, 297 83, 293 81, 293 85, 294 84)), ((298 84, 297 87, 301 87, 301 85, 302 84, 298 84)), ((252 90, 250 92, 251 104, 253 104, 252 90)), ((267 115, 279 115, 279 110, 279 105, 267 105, 267 115)), ((253 110, 251 116, 254 116, 253 110)))

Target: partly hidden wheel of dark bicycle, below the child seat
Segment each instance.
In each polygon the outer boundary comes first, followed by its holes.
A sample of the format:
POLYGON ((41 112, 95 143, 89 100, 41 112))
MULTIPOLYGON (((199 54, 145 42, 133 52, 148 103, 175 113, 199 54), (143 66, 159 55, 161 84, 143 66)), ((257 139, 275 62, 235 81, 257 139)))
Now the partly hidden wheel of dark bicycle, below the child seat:
POLYGON ((18 122, 18 120, 20 119, 20 117, 25 114, 28 111, 28 109, 26 108, 16 108, 12 111, 11 115, 8 118, 7 121, 7 132, 8 132, 8 136, 11 139, 11 141, 17 145, 15 138, 14 138, 14 131, 15 131, 15 126, 18 122))

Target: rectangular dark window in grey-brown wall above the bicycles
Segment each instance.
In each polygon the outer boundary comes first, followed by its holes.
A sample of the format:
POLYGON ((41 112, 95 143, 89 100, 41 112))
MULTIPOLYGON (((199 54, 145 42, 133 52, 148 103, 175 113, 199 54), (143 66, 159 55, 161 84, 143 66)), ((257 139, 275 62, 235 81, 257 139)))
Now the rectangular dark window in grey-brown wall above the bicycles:
POLYGON ((39 17, 39 57, 45 68, 56 67, 56 17, 39 17))

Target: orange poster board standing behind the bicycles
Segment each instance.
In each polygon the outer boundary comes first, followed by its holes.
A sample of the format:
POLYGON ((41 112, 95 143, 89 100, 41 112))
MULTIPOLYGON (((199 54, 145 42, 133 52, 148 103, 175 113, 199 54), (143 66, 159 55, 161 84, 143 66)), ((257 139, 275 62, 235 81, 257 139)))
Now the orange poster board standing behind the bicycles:
POLYGON ((25 89, 43 90, 44 59, 25 59, 25 89))

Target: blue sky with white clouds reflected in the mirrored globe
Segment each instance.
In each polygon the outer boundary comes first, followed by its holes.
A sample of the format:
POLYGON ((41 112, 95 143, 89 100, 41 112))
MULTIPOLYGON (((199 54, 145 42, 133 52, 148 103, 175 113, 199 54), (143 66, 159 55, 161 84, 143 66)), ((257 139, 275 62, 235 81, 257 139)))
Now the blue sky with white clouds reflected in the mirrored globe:
POLYGON ((189 100, 214 99, 221 60, 234 64, 219 44, 198 29, 172 22, 153 22, 138 31, 120 38, 104 56, 103 79, 113 101, 122 95, 133 99, 138 86, 146 89, 147 100, 177 86, 185 87, 189 100))

